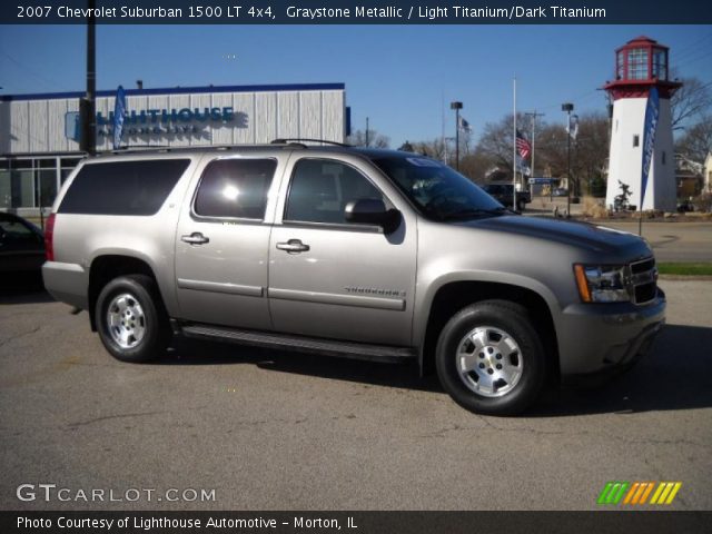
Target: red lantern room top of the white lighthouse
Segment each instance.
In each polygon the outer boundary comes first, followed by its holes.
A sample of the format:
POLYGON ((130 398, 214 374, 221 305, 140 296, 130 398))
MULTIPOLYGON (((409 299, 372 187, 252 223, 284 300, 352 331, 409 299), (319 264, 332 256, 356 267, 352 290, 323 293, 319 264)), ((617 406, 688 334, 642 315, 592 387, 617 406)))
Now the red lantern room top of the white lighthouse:
POLYGON ((619 98, 644 98, 655 86, 660 98, 670 98, 682 83, 669 81, 669 48, 645 37, 636 37, 615 51, 615 81, 603 88, 613 100, 619 98))

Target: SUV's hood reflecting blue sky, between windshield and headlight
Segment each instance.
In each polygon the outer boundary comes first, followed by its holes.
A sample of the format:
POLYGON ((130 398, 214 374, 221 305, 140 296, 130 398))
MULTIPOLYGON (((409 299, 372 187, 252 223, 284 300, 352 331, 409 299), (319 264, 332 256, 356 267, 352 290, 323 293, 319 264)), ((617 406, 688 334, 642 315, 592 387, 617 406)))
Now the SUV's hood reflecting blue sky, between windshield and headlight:
POLYGON ((462 225, 561 243, 597 254, 620 255, 626 259, 652 255, 647 244, 639 236, 589 222, 505 215, 469 220, 462 225))

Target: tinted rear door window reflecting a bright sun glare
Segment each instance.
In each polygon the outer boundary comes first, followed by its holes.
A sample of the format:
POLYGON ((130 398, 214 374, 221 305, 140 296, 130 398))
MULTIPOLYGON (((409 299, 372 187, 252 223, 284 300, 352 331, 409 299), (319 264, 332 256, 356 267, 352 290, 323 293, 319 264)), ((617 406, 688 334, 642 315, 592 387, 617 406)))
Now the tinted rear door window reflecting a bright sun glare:
POLYGON ((202 217, 263 219, 274 159, 218 159, 206 167, 194 210, 202 217))

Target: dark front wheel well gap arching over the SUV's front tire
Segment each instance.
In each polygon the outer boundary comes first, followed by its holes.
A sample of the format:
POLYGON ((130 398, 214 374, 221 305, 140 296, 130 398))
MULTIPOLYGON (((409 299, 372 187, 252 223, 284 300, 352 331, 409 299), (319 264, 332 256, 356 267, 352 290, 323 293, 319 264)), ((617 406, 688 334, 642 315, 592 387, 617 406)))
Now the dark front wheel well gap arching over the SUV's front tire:
POLYGON ((554 319, 546 300, 536 291, 522 286, 476 280, 451 281, 441 287, 433 297, 425 339, 419 353, 421 373, 428 375, 435 370, 435 347, 449 318, 465 306, 488 299, 512 300, 530 312, 534 328, 542 335, 547 355, 547 376, 557 380, 561 375, 558 344, 554 319))

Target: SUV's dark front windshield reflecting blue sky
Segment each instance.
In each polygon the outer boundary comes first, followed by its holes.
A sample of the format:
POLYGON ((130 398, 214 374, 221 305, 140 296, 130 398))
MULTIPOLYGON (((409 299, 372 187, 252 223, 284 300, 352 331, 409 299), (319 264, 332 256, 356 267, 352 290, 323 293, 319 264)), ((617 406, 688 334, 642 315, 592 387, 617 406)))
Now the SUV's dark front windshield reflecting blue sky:
POLYGON ((506 208, 463 175, 431 158, 374 158, 403 192, 429 218, 449 220, 501 215, 506 208))

